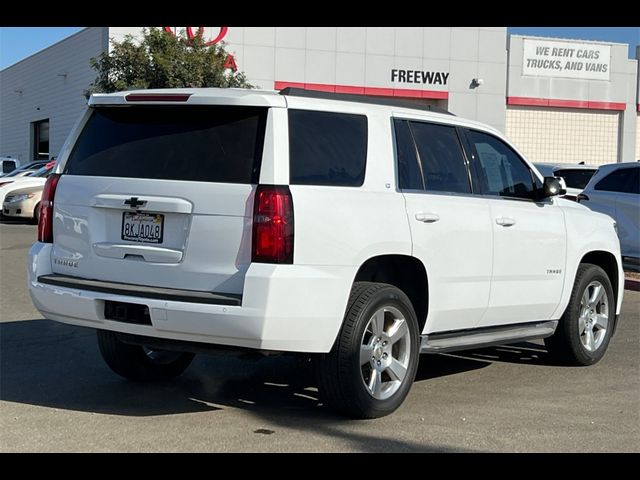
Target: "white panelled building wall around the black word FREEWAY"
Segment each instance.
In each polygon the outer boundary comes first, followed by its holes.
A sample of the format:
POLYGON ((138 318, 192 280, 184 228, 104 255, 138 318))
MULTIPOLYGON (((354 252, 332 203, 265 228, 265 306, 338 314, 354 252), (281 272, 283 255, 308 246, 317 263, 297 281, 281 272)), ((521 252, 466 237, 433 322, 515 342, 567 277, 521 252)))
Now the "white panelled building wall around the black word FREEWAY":
POLYGON ((449 92, 454 114, 504 131, 504 27, 229 27, 224 41, 259 88, 278 81, 449 92), (392 69, 449 77, 447 85, 399 83, 392 69), (473 78, 484 83, 475 88, 473 78))

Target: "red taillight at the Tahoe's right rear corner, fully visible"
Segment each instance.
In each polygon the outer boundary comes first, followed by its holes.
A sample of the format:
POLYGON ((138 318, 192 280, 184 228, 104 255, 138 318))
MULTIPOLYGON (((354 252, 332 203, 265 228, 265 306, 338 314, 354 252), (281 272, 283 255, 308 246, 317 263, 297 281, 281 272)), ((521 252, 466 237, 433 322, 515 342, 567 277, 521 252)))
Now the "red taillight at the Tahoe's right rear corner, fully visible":
POLYGON ((287 186, 258 185, 252 262, 293 263, 293 201, 287 186))

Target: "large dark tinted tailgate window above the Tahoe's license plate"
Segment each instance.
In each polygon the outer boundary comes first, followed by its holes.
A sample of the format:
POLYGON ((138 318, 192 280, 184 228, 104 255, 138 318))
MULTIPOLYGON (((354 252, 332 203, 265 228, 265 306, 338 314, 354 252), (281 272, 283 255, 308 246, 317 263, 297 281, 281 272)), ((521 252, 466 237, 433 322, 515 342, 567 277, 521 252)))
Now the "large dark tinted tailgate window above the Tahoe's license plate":
POLYGON ((64 173, 258 183, 266 116, 257 107, 96 108, 64 173))

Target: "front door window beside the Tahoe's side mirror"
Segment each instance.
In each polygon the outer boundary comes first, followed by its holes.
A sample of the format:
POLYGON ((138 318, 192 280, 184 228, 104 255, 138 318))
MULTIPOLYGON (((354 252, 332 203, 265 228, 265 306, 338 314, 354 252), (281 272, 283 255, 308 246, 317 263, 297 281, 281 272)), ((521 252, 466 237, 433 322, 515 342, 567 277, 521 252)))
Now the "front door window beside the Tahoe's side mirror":
POLYGON ((478 175, 486 195, 533 198, 531 171, 506 143, 473 130, 468 136, 478 154, 478 175))

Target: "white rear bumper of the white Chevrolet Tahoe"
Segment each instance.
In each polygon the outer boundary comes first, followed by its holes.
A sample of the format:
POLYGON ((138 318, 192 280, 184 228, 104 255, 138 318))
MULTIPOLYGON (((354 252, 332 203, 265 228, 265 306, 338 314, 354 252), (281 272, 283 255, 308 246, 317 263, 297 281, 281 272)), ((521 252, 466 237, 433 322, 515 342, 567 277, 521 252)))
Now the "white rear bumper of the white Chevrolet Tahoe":
POLYGON ((72 325, 259 350, 325 353, 342 324, 356 269, 251 264, 241 305, 198 303, 90 290, 82 282, 43 283, 38 277, 56 277, 51 244, 36 243, 29 251, 28 287, 44 317, 72 325), (106 300, 146 305, 151 326, 105 319, 106 300))

